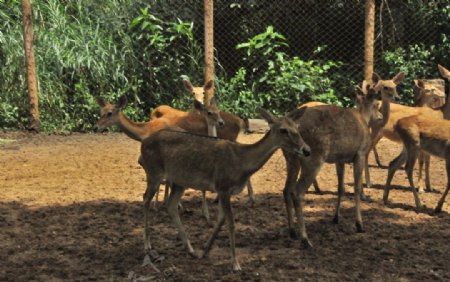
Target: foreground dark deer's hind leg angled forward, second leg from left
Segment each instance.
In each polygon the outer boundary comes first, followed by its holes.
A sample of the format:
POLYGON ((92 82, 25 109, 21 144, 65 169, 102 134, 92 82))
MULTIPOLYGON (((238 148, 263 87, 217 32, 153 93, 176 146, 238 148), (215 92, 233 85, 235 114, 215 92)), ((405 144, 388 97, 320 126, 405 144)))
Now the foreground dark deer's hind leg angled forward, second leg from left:
POLYGON ((184 230, 183 223, 181 223, 180 215, 178 213, 178 203, 183 196, 184 190, 184 187, 172 183, 172 191, 170 191, 169 201, 167 202, 167 211, 178 229, 178 236, 180 236, 186 250, 191 256, 198 257, 194 248, 192 248, 191 242, 187 238, 186 231, 184 230))

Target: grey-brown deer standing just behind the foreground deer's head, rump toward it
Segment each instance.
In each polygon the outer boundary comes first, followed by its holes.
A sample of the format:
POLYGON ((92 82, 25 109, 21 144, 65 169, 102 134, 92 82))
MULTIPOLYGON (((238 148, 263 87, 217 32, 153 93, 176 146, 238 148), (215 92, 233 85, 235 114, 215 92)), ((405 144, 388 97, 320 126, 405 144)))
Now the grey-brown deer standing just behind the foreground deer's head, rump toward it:
MULTIPOLYGON (((395 84, 400 83, 403 77, 404 74, 400 72, 392 81, 395 84)), ((304 195, 325 162, 336 164, 338 197, 333 218, 336 224, 339 223, 340 202, 344 192, 345 163, 353 163, 356 229, 357 232, 364 232, 360 210, 361 174, 371 146, 369 122, 375 110, 373 103, 377 103, 376 93, 381 92, 383 119, 388 119, 390 102, 397 95, 395 87, 386 89, 384 87, 386 86, 379 80, 373 89, 370 89, 368 95, 363 97, 364 107, 359 110, 323 105, 306 107, 301 116, 292 117, 299 125, 300 135, 310 146, 311 155, 305 158, 283 151, 287 164, 283 196, 290 236, 297 236, 292 227, 292 209, 294 208, 301 244, 306 248, 312 247, 312 244, 308 239, 303 219, 304 195), (300 168, 300 177, 297 180, 300 168)))

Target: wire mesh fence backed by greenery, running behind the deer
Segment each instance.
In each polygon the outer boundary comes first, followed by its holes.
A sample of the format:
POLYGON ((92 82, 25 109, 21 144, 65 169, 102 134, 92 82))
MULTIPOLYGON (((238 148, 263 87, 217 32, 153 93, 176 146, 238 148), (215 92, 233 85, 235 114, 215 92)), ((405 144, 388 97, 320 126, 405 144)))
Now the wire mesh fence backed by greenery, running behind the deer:
MULTIPOLYGON (((347 89, 363 79, 365 2, 214 1, 222 107, 250 116, 257 105, 281 113, 311 99, 350 104, 347 89)), ((26 97, 26 87, 17 75, 23 71, 17 63, 23 56, 20 5, 8 3, 0 3, 0 60, 8 65, 0 70, 0 107, 8 109, 0 118, 15 126, 24 122, 26 101, 14 93, 26 97)), ((113 100, 127 95, 134 105, 127 113, 136 119, 160 104, 190 105, 181 77, 203 83, 203 1, 63 4, 49 0, 33 7, 44 119, 77 120, 69 129, 80 129, 97 110, 94 95, 113 100)), ((377 0, 375 6, 374 70, 382 77, 405 71, 408 102, 413 79, 437 78, 436 64, 450 65, 450 5, 446 0, 377 0)))

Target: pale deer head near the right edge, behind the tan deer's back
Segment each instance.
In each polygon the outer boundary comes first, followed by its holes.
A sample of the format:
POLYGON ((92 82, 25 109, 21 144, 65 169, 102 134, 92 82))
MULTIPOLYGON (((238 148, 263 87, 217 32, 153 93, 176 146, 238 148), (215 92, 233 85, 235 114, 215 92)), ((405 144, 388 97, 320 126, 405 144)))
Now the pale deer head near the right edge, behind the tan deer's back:
POLYGON ((439 95, 441 91, 435 85, 426 83, 422 79, 414 80, 414 92, 417 106, 427 106, 432 109, 437 109, 445 103, 445 94, 442 93, 444 95, 439 95))

